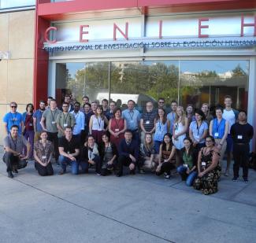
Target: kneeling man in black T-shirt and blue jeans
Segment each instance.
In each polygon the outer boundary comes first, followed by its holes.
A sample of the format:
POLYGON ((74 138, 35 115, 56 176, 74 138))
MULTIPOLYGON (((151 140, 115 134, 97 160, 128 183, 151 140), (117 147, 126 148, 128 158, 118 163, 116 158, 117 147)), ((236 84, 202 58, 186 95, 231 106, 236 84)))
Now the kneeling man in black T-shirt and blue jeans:
MULTIPOLYGON (((61 164, 61 171, 58 173, 59 175, 63 175, 66 172, 67 164, 72 167, 72 174, 78 175, 79 171, 79 154, 80 154, 80 142, 76 140, 76 138, 72 137, 72 128, 65 127, 65 136, 59 138, 59 164, 61 164)), ((82 168, 85 170, 81 164, 82 168)))

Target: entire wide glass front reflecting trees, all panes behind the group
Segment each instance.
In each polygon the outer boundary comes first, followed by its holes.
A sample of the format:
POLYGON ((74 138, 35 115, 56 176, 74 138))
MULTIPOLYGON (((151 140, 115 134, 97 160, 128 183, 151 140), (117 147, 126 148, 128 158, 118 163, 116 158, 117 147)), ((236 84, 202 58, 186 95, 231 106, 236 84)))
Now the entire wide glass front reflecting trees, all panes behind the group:
POLYGON ((176 100, 200 108, 224 105, 231 95, 235 109, 247 110, 249 61, 116 61, 57 64, 56 98, 65 94, 77 101, 87 95, 90 101, 103 98, 117 101, 126 109, 128 100, 143 112, 147 101, 158 105, 165 99, 166 112, 176 100), (180 68, 179 68, 180 67, 180 68))

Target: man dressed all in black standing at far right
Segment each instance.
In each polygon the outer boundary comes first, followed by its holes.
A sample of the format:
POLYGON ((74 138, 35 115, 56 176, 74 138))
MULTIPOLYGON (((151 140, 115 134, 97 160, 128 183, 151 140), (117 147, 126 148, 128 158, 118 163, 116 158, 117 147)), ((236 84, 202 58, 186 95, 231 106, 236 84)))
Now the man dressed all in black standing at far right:
POLYGON ((248 164, 250 153, 250 139, 254 137, 254 128, 247 123, 247 112, 239 111, 238 122, 234 123, 230 129, 230 134, 234 142, 233 147, 233 181, 239 178, 239 168, 243 167, 243 181, 248 183, 248 164))

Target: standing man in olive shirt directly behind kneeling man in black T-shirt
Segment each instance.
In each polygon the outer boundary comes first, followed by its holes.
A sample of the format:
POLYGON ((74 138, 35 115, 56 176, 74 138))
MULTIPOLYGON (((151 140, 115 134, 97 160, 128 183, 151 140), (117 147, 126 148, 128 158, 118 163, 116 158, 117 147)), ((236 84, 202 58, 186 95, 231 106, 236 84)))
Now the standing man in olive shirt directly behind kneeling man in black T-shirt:
POLYGON ((64 102, 62 104, 62 111, 60 114, 58 114, 56 119, 56 124, 58 128, 58 138, 61 138, 65 134, 65 127, 74 127, 76 120, 75 117, 69 113, 69 104, 64 102))

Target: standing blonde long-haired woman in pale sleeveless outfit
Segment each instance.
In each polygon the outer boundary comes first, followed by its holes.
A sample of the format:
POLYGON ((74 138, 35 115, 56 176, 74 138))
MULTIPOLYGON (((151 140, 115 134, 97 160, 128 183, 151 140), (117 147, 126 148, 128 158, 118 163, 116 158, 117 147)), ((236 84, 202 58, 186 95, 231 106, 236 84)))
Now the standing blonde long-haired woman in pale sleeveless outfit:
POLYGON ((188 119, 184 112, 184 108, 178 106, 173 125, 173 145, 176 148, 176 166, 179 166, 181 162, 180 149, 184 148, 184 138, 186 138, 187 128, 188 119))

